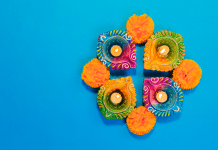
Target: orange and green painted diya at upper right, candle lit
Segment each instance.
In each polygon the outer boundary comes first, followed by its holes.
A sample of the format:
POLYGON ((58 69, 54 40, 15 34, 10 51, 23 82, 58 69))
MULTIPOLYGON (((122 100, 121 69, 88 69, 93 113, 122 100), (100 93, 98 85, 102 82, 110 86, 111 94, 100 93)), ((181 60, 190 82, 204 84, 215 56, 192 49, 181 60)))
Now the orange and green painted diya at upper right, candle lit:
POLYGON ((183 37, 162 30, 153 34, 145 44, 144 69, 171 71, 184 59, 183 37))

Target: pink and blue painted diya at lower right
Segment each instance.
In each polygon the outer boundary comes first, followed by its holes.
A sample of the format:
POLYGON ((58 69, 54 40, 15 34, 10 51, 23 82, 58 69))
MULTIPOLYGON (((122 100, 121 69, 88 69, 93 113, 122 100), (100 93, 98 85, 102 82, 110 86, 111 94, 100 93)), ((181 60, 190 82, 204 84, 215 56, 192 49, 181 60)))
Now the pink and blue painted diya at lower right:
POLYGON ((181 112, 183 92, 178 83, 170 78, 146 78, 143 101, 145 107, 154 115, 167 117, 181 112))

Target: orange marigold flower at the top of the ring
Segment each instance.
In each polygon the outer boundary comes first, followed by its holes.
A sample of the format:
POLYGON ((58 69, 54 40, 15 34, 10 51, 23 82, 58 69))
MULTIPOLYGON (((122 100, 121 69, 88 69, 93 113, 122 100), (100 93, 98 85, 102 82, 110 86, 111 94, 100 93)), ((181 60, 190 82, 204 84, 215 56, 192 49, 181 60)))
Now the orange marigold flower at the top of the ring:
POLYGON ((127 33, 135 43, 144 43, 154 32, 154 22, 146 14, 129 18, 126 24, 127 33))

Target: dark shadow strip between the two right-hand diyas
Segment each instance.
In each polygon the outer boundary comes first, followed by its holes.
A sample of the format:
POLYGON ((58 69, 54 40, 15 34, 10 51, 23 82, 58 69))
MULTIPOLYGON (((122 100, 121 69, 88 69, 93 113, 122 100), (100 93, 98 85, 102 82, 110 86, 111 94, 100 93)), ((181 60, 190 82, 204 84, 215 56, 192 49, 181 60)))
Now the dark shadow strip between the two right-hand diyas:
POLYGON ((153 70, 143 70, 143 74, 145 77, 169 77, 172 78, 173 71, 161 72, 161 71, 153 71, 153 70))

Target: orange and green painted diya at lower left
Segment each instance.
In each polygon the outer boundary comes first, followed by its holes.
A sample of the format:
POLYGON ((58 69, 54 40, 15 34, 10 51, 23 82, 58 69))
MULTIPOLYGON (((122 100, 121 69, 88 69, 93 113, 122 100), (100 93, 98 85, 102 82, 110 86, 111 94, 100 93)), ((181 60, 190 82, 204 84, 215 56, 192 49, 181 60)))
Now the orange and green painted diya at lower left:
POLYGON ((123 119, 136 106, 136 93, 131 77, 112 79, 101 86, 97 103, 106 119, 123 119))

